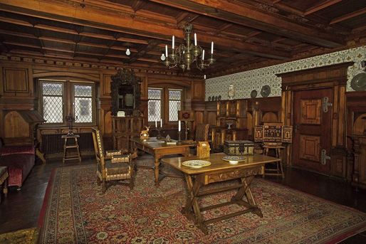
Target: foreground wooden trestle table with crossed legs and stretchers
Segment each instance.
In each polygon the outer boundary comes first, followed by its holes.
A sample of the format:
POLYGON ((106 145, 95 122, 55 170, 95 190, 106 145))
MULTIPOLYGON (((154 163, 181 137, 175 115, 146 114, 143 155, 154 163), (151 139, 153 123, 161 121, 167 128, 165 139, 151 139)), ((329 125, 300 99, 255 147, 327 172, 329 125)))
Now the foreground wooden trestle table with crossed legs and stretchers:
POLYGON ((197 223, 198 227, 207 234, 206 224, 214 223, 216 221, 222 221, 226 218, 239 216, 244 213, 253 212, 257 216, 263 217, 261 209, 258 208, 254 201, 253 194, 251 193, 250 185, 254 176, 257 174, 263 174, 264 165, 267 163, 273 163, 279 159, 274 157, 268 157, 266 155, 254 154, 246 156, 245 161, 240 161, 238 164, 229 164, 229 161, 224 161, 221 158, 226 156, 224 153, 211 154, 209 158, 199 159, 210 161, 210 166, 205 166, 199 169, 194 169, 188 166, 183 166, 182 163, 187 160, 198 159, 197 156, 191 157, 177 157, 162 159, 164 164, 169 164, 175 169, 182 171, 187 183, 187 199, 186 205, 182 208, 182 214, 189 219, 192 219, 197 223), (211 183, 219 181, 228 181, 231 179, 240 179, 238 184, 230 186, 219 186, 214 189, 202 189, 202 186, 206 186, 211 183), (231 201, 225 203, 218 203, 212 206, 200 207, 198 198, 221 191, 230 191, 238 189, 235 196, 231 198, 231 201), (247 201, 244 201, 243 197, 246 196, 247 201), (211 218, 204 220, 201 211, 206 211, 213 208, 219 208, 222 206, 238 204, 246 207, 245 210, 235 213, 228 213, 217 218, 211 218))

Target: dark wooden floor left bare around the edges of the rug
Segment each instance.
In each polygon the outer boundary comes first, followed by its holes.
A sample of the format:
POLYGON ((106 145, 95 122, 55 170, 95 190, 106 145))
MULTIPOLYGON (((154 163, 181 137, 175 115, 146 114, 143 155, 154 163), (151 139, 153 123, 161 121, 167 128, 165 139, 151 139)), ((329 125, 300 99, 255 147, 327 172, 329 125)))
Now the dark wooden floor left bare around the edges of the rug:
MULTIPOLYGON (((142 159, 147 157, 150 156, 145 154, 142 159)), ((63 164, 62 159, 53 159, 46 165, 36 164, 22 189, 17 191, 16 188, 11 188, 8 196, 3 198, 4 201, 0 204, 0 233, 37 226, 51 171, 58 166, 80 164, 95 164, 95 160, 90 157, 83 158, 81 163, 75 161, 63 164)), ((366 191, 355 192, 349 184, 328 176, 300 169, 286 169, 286 179, 277 176, 268 176, 266 179, 366 212, 366 191)), ((366 243, 366 231, 342 243, 366 243)))

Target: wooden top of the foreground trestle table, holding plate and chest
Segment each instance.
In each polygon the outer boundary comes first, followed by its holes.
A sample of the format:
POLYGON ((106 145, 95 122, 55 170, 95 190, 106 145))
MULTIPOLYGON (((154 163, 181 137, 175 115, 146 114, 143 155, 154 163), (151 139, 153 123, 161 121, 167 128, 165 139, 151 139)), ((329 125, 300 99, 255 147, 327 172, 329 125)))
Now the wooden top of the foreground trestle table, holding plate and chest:
POLYGON ((162 162, 165 164, 169 164, 173 166, 175 169, 182 171, 184 174, 202 174, 209 173, 213 171, 226 170, 226 169, 234 169, 234 168, 251 168, 253 166, 263 166, 266 163, 273 163, 276 161, 280 161, 280 159, 275 157, 269 157, 262 154, 254 154, 254 155, 246 155, 245 161, 239 161, 238 164, 229 164, 229 161, 224 161, 221 158, 227 156, 224 153, 210 154, 209 158, 199 159, 197 156, 190 157, 174 157, 168 159, 162 159, 162 162), (191 168, 188 166, 182 165, 184 161, 187 160, 204 160, 210 161, 211 165, 204 166, 202 168, 191 168))

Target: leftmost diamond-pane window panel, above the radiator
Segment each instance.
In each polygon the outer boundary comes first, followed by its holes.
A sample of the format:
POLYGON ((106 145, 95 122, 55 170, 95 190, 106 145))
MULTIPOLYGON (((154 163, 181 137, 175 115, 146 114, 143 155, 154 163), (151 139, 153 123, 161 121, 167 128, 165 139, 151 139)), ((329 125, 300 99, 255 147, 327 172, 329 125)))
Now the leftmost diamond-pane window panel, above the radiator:
POLYGON ((43 118, 45 123, 63 122, 63 83, 42 83, 43 118))

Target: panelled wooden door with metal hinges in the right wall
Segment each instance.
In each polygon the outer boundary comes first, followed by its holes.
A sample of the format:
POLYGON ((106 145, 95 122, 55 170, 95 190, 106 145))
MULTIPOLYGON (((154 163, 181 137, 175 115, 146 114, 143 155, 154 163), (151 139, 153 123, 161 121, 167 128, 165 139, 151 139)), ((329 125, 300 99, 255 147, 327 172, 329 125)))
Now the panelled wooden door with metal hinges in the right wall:
POLYGON ((333 102, 333 90, 328 88, 293 93, 292 159, 293 166, 330 174, 330 160, 326 156, 330 154, 332 107, 329 106, 325 112, 324 97, 333 102))

